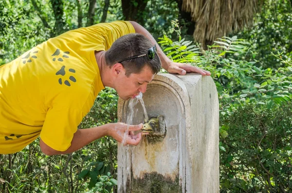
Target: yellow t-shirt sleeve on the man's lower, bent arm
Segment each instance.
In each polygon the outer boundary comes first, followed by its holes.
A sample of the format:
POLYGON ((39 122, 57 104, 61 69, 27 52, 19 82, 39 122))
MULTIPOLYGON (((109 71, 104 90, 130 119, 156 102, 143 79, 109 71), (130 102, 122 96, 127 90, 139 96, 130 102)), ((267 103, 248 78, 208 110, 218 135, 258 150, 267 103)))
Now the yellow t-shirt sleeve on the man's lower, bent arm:
POLYGON ((47 112, 40 138, 57 151, 66 151, 71 146, 74 133, 83 116, 80 110, 53 107, 47 112))

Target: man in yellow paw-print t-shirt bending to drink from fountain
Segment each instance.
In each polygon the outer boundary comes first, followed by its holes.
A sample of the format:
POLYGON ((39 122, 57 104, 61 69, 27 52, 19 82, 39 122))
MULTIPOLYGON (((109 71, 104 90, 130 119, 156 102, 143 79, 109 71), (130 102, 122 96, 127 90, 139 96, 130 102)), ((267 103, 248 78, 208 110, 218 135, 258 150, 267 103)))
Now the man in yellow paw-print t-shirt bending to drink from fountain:
POLYGON ((208 71, 172 62, 136 22, 100 23, 66 32, 0 67, 0 154, 21 151, 40 136, 46 155, 72 153, 111 136, 137 145, 139 125, 109 123, 77 130, 99 91, 128 100, 145 92, 161 66, 170 73, 208 71), (134 34, 137 33, 137 34, 134 34), (158 55, 159 56, 158 56, 158 55))

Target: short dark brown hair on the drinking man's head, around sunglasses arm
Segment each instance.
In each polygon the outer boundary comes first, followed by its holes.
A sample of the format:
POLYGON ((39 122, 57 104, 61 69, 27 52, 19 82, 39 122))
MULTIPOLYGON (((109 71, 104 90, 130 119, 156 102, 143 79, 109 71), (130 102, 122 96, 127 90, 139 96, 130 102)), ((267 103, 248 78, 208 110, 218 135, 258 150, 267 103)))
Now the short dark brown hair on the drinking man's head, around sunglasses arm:
MULTIPOLYGON (((114 64, 128 57, 145 54, 149 48, 153 47, 151 41, 141 34, 128 34, 118 38, 106 52, 106 64, 111 68, 114 64)), ((157 74, 161 69, 161 61, 155 52, 153 60, 149 60, 147 55, 139 58, 129 59, 121 62, 126 70, 126 76, 131 73, 140 73, 147 65, 153 74, 157 74)))

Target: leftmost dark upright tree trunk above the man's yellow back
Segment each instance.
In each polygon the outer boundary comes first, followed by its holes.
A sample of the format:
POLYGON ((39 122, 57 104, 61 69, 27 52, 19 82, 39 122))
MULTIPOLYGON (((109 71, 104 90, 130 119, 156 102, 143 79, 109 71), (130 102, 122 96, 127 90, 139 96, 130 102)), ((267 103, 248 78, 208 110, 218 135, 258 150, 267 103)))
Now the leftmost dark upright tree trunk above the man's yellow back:
POLYGON ((65 31, 65 21, 63 20, 63 0, 50 0, 55 15, 55 35, 65 31))

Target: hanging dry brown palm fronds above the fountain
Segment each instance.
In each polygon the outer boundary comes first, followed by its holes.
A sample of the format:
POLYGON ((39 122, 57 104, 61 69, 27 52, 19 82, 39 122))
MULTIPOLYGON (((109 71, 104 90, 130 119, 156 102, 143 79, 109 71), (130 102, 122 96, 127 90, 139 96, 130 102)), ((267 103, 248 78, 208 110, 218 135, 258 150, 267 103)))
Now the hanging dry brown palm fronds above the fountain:
POLYGON ((194 38, 205 44, 250 27, 262 0, 183 0, 183 10, 196 22, 194 38))

